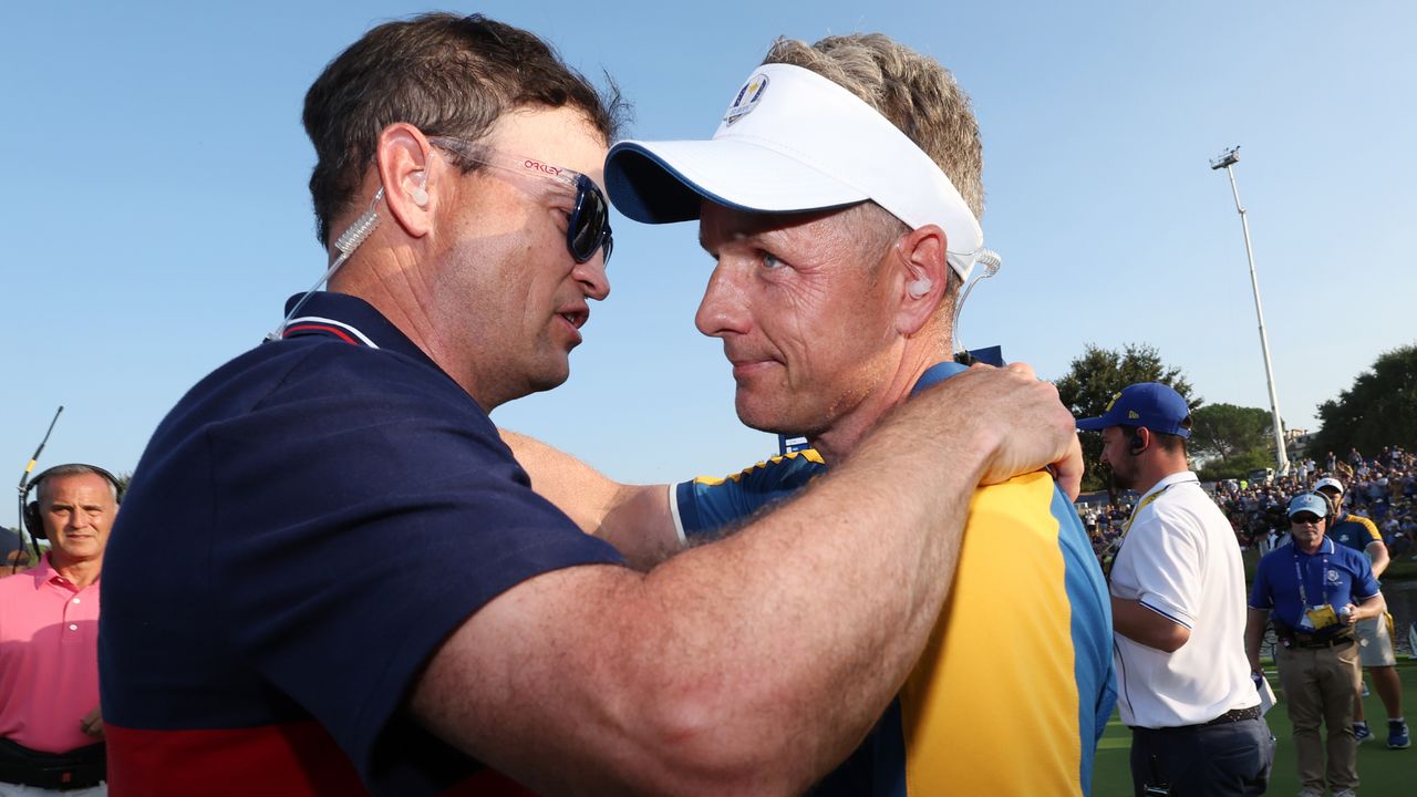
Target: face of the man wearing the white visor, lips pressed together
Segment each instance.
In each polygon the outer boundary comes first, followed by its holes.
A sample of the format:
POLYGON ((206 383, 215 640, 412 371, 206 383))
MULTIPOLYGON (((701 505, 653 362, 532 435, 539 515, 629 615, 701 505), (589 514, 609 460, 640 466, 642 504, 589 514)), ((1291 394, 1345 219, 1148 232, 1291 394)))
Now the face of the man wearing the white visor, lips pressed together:
POLYGON ((890 379, 894 289, 840 213, 760 214, 703 203, 716 265, 694 322, 723 339, 738 418, 818 437, 890 379))

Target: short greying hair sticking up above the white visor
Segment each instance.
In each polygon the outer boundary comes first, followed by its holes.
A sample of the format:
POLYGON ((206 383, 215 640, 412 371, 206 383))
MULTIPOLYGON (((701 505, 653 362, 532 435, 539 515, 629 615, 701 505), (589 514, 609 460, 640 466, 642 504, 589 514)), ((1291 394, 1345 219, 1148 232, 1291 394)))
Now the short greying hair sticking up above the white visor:
POLYGON ((829 35, 808 45, 778 38, 764 64, 791 64, 862 98, 915 142, 983 218, 983 146, 969 95, 949 69, 879 33, 829 35))

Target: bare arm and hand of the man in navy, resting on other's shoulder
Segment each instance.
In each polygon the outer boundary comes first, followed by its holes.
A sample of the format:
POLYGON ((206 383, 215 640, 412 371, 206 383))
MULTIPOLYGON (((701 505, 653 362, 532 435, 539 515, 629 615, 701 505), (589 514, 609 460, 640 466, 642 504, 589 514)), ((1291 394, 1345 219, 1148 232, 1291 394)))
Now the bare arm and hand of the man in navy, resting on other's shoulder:
POLYGON ((927 393, 724 542, 646 576, 568 567, 495 598, 435 654, 415 715, 538 793, 803 791, 914 667, 975 484, 1076 445, 1032 372, 927 393))

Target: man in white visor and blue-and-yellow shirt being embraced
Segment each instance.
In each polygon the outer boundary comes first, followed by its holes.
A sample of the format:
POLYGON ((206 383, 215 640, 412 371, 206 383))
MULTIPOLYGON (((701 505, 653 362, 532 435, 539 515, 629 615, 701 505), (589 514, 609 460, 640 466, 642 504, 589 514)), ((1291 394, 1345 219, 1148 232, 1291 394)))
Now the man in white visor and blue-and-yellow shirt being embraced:
MULTIPOLYGON (((914 391, 965 370, 952 311, 983 247, 981 167, 949 72, 879 34, 779 40, 710 140, 615 145, 605 177, 625 216, 699 220, 716 265, 696 322, 723 339, 738 417, 812 448, 665 489, 597 482, 514 440, 533 484, 582 528, 648 549, 632 559, 649 563, 849 458, 914 391)), ((961 390, 955 418, 968 425, 993 403, 961 390)), ((958 452, 969 468, 968 447, 958 452)), ((833 518, 820 523, 835 533, 833 518)), ((1107 590, 1068 496, 1047 472, 981 488, 924 657, 813 794, 1087 794, 1112 684, 1107 590)))

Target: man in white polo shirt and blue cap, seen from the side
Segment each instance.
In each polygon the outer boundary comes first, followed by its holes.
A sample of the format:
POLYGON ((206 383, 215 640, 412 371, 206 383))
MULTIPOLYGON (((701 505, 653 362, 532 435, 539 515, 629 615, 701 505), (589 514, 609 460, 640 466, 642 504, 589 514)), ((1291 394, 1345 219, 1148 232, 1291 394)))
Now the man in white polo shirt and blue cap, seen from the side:
POLYGON ((1240 547, 1186 464, 1186 400, 1131 384, 1077 427, 1102 433, 1114 482, 1142 494, 1108 573, 1136 794, 1263 794, 1274 737, 1243 647, 1240 547))

